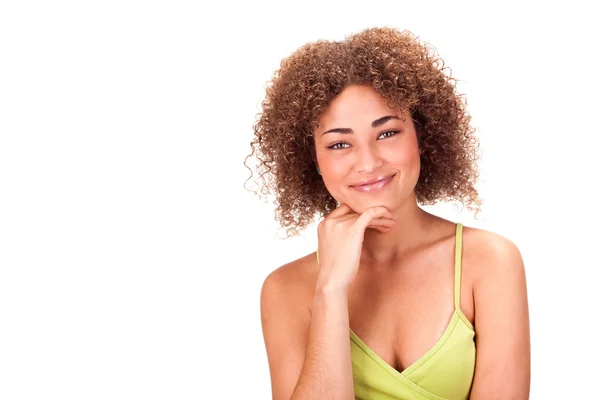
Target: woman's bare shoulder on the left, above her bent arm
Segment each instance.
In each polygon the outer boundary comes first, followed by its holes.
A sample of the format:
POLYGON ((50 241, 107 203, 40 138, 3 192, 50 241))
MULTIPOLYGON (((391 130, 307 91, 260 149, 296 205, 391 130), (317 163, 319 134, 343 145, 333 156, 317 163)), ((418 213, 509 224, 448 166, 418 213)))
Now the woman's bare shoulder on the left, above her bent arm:
POLYGON ((316 254, 286 263, 267 275, 261 288, 261 314, 269 309, 304 308, 309 304, 318 276, 316 254))

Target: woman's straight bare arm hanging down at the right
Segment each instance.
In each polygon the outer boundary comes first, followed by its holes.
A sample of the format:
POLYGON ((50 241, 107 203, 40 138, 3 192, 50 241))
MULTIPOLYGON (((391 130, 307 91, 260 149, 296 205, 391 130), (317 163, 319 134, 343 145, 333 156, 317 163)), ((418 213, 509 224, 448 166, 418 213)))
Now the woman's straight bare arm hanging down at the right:
POLYGON ((471 399, 529 399, 530 339, 525 269, 518 248, 494 235, 474 283, 477 360, 471 399))

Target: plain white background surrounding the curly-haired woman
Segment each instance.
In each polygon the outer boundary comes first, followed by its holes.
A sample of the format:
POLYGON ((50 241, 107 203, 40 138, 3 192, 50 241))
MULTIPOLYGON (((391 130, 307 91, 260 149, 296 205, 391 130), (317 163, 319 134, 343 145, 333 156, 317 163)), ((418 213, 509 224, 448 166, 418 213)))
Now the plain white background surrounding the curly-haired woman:
POLYGON ((483 213, 433 211, 521 249, 531 398, 600 396, 591 6, 200 3, 1 3, 0 398, 270 398, 261 284, 316 235, 244 189, 252 124, 283 57, 383 25, 467 96, 483 213))

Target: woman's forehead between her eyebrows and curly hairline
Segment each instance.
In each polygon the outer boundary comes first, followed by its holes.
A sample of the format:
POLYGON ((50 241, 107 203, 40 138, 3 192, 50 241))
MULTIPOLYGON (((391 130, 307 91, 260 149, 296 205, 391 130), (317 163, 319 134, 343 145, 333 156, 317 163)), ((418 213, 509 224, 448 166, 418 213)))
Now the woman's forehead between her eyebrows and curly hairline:
POLYGON ((390 108, 387 101, 370 86, 352 85, 329 103, 319 118, 318 130, 370 126, 374 120, 387 115, 405 116, 401 109, 390 108))

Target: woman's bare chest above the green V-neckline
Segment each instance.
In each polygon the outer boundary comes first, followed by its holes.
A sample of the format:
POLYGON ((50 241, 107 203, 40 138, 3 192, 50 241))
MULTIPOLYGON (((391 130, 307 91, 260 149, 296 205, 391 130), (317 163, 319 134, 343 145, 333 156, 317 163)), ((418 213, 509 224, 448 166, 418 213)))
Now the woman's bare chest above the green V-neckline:
MULTIPOLYGON (((454 289, 453 263, 382 271, 365 268, 348 292, 350 329, 401 372, 446 331, 455 310, 454 289)), ((468 290, 463 287, 461 292, 468 290)))

